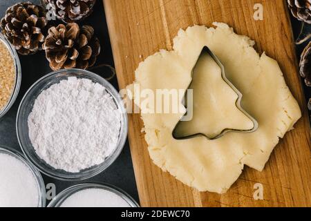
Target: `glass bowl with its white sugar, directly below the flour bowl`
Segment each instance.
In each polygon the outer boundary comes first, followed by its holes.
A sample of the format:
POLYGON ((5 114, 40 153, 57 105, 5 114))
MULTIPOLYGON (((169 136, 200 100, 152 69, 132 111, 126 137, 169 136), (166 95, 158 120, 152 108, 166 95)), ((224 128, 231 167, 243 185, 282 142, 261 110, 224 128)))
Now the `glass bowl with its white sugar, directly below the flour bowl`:
POLYGON ((59 193, 48 207, 138 207, 138 204, 114 186, 79 184, 59 193))

